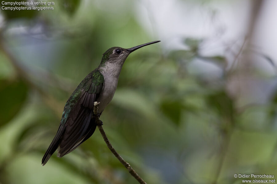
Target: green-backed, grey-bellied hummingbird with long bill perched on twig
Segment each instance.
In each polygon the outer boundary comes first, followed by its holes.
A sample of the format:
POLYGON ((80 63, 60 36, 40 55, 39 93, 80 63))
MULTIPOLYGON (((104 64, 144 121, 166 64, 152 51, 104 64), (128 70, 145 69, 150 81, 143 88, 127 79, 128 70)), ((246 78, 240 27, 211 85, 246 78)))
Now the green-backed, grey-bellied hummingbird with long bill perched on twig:
POLYGON ((100 102, 98 117, 112 100, 122 66, 131 52, 160 42, 152 41, 132 48, 112 47, 102 56, 100 65, 90 72, 67 100, 58 131, 42 158, 42 166, 58 149, 62 157, 90 138, 96 129, 94 102, 100 102))

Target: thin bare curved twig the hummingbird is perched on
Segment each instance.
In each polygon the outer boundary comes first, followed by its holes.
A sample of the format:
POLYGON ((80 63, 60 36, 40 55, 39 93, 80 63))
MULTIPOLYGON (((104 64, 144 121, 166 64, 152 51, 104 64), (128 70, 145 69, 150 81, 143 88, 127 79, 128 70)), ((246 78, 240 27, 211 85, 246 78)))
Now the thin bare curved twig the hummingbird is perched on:
POLYGON ((102 127, 103 123, 102 121, 99 119, 98 116, 98 105, 100 103, 99 102, 94 102, 94 109, 93 109, 93 113, 95 115, 95 120, 96 120, 96 124, 97 127, 107 145, 107 147, 110 149, 110 151, 114 154, 114 156, 119 160, 120 163, 123 164, 124 167, 126 167, 126 169, 129 171, 129 173, 141 184, 147 184, 145 181, 143 181, 143 179, 139 176, 139 174, 136 173, 136 171, 134 171, 134 169, 130 166, 129 163, 127 163, 119 154, 118 152, 114 149, 114 147, 110 144, 110 141, 102 127))

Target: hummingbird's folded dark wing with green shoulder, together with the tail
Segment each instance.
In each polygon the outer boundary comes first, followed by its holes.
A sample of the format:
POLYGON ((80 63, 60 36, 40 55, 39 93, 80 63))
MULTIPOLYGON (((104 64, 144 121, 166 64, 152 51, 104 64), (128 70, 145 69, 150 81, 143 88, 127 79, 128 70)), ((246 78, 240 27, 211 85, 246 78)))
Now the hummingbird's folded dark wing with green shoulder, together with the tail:
MULTIPOLYGON (((104 85, 104 77, 98 70, 92 71, 79 84, 66 102, 56 136, 42 158, 44 165, 58 148, 58 157, 77 148, 96 125, 91 121, 94 102, 104 85)), ((93 132, 94 132, 93 130, 93 132)))

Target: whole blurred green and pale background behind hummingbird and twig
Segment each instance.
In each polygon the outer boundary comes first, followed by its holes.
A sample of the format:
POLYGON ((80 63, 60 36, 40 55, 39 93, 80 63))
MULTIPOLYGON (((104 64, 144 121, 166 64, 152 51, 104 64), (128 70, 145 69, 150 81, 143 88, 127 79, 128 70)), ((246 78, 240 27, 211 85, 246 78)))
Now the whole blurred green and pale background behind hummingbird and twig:
POLYGON ((277 174, 277 1, 51 6, 0 11, 0 183, 137 183, 98 129, 69 155, 41 159, 102 54, 154 40, 128 57, 101 116, 118 153, 149 184, 277 174))

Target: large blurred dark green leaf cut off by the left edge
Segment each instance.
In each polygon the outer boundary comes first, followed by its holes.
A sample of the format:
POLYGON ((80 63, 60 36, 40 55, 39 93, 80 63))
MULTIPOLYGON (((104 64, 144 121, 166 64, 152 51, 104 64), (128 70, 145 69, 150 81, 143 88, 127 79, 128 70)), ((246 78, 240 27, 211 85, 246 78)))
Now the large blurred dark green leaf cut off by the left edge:
POLYGON ((27 98, 28 87, 23 81, 0 80, 0 127, 9 122, 27 98))

